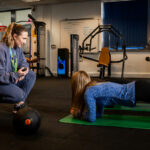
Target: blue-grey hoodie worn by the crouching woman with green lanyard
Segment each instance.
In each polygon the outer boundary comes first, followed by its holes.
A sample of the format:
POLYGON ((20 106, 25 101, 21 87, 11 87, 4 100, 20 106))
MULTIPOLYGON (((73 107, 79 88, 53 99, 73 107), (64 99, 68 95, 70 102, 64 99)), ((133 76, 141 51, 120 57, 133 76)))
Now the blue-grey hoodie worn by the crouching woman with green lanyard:
MULTIPOLYGON (((29 67, 21 48, 12 48, 12 53, 16 51, 17 68, 29 67)), ((15 57, 15 56, 14 56, 15 57)), ((5 43, 0 43, 0 84, 15 84, 19 74, 13 72, 9 47, 5 43)))

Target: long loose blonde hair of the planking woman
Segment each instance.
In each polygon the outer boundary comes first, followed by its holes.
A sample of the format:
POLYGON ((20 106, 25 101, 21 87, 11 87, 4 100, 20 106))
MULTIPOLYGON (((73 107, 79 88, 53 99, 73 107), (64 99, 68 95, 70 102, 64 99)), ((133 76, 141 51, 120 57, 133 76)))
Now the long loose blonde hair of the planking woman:
POLYGON ((75 118, 82 117, 85 109, 84 92, 87 86, 93 86, 96 82, 91 82, 90 76, 85 71, 78 71, 72 75, 72 101, 70 113, 75 118))

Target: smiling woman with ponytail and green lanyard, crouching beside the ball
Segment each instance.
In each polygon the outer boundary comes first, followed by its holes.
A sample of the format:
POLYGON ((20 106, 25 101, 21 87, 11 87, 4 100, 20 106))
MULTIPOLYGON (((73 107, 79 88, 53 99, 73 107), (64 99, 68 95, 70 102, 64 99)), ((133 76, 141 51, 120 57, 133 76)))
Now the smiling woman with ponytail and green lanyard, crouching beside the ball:
POLYGON ((24 106, 36 79, 21 49, 27 38, 24 26, 11 23, 0 43, 0 102, 14 103, 14 113, 24 106))

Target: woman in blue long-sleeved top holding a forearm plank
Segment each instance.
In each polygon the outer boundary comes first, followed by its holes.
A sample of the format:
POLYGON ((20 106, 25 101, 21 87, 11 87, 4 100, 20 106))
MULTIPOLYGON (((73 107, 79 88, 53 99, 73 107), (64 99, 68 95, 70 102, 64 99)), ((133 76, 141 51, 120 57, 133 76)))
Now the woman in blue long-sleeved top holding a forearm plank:
POLYGON ((94 122, 104 113, 105 106, 123 105, 133 107, 136 101, 150 101, 150 82, 140 80, 127 84, 91 81, 85 71, 75 72, 71 79, 71 114, 94 122), (141 90, 142 87, 142 90, 141 90))

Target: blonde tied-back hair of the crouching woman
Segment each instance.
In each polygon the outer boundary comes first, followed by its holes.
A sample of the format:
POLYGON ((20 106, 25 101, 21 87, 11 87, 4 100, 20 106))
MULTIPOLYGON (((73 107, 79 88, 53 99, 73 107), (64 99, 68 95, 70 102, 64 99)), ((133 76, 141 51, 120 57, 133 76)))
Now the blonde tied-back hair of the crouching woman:
POLYGON ((9 47, 12 47, 14 44, 13 35, 14 34, 21 35, 23 31, 27 32, 27 30, 23 25, 12 22, 6 29, 1 42, 6 43, 6 45, 9 47))

